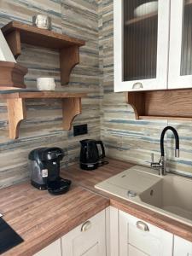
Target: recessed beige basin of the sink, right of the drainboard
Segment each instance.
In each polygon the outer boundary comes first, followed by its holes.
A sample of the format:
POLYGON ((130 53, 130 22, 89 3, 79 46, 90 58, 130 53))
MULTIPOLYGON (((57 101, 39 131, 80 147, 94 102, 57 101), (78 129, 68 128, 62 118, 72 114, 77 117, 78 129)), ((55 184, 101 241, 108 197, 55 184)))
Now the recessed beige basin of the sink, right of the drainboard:
POLYGON ((148 205, 192 221, 192 182, 187 178, 166 175, 139 196, 148 205))

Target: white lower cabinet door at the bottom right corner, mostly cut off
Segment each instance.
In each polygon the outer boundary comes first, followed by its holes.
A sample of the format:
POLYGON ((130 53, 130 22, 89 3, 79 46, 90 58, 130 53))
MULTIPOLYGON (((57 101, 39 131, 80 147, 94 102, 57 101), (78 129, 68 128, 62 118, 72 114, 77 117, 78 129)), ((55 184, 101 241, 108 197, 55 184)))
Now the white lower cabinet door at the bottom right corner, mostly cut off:
POLYGON ((192 256, 192 242, 174 236, 174 256, 192 256))

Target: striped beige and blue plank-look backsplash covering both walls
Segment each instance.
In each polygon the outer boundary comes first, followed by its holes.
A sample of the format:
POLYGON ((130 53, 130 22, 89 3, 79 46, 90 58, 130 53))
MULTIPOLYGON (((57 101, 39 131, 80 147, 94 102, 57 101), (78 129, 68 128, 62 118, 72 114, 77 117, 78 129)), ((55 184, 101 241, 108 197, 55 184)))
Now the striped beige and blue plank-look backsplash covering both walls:
POLYGON ((172 133, 166 134, 168 166, 175 172, 192 175, 192 122, 135 120, 124 93, 113 93, 113 1, 112 0, 1 0, 0 26, 10 20, 32 24, 32 15, 51 16, 53 29, 81 38, 80 64, 73 69, 70 84, 60 84, 59 55, 50 49, 22 44, 18 62, 29 68, 28 88, 36 88, 37 77, 50 76, 56 90, 87 92, 82 114, 73 125, 88 124, 89 134, 73 137, 73 131, 61 130, 59 100, 27 100, 27 119, 20 125, 20 138, 8 138, 7 108, 0 101, 0 187, 29 178, 27 155, 33 148, 58 146, 64 149, 62 166, 79 160, 79 140, 99 139, 110 157, 148 166, 150 154, 160 158, 160 133, 172 125, 180 137, 180 158, 174 158, 172 133), (37 114, 38 113, 38 114, 37 114))

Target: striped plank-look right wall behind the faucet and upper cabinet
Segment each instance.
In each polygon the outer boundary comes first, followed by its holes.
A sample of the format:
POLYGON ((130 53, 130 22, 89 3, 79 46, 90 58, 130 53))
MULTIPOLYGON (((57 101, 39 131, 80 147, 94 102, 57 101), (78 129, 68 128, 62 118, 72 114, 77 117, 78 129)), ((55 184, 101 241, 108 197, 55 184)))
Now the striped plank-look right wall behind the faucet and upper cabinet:
POLYGON ((168 167, 175 172, 192 175, 192 122, 165 120, 135 120, 124 93, 113 93, 113 0, 102 0, 99 8, 100 49, 103 61, 102 140, 109 157, 149 165, 150 154, 160 158, 160 133, 172 125, 180 137, 180 158, 174 158, 172 132, 166 135, 168 167))

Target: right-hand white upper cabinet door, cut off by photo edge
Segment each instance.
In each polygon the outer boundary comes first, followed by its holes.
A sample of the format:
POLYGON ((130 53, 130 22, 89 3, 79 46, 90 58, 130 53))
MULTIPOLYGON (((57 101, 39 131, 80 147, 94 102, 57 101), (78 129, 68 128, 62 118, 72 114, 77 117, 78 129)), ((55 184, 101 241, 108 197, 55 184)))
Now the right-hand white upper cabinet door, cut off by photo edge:
POLYGON ((168 87, 192 87, 192 1, 171 0, 168 87))

